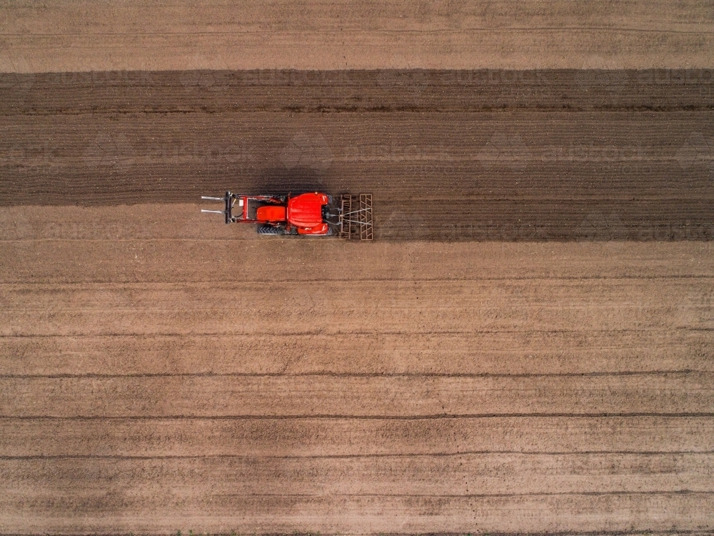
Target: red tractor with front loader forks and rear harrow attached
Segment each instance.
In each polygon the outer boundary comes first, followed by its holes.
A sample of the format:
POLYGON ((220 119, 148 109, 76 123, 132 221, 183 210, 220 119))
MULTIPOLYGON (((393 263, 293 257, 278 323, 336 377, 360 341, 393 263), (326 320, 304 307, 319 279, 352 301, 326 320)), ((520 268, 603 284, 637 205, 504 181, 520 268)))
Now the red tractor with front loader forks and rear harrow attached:
POLYGON ((201 212, 223 214, 227 224, 258 224, 258 234, 372 239, 372 194, 343 194, 339 204, 321 192, 295 196, 226 192, 224 197, 201 199, 224 203, 223 210, 201 209, 201 212))

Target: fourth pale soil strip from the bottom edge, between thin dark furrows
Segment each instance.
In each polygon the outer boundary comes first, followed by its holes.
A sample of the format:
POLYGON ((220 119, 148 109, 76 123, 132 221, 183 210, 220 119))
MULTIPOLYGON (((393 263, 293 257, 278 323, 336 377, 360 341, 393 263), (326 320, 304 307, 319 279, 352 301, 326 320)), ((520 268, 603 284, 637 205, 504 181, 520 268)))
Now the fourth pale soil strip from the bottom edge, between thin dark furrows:
POLYGON ((2 417, 708 415, 714 374, 0 379, 2 417))

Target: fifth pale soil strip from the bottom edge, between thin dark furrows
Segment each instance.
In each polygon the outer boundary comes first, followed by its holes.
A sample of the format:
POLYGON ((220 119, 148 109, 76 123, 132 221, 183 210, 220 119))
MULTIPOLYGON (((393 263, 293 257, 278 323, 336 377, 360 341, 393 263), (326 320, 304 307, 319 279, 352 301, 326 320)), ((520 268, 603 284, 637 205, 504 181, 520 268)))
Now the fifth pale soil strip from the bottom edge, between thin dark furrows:
POLYGON ((0 337, 0 377, 714 372, 695 329, 0 337))

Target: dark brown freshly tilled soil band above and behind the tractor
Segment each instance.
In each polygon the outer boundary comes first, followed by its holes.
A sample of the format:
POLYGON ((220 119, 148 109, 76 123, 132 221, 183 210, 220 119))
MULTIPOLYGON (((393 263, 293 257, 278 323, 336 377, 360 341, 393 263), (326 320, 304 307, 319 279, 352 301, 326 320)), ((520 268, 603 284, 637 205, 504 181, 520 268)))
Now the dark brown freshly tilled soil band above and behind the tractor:
POLYGON ((27 76, 3 204, 371 191, 383 239, 714 236, 707 70, 27 76))

